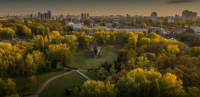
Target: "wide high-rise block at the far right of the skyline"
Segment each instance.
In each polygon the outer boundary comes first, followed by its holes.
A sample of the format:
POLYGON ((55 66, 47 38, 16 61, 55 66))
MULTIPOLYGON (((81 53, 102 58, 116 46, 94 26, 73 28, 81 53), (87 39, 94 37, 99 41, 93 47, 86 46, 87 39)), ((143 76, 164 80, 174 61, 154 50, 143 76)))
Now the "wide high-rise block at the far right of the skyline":
POLYGON ((188 10, 184 10, 182 12, 182 20, 197 20, 197 13, 188 11, 188 10))

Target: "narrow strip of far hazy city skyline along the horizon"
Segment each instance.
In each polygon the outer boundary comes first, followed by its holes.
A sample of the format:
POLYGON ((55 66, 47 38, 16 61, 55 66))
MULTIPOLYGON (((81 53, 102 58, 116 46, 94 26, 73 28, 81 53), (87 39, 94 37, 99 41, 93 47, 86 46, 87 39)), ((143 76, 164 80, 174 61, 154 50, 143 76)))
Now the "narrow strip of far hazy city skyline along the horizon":
POLYGON ((197 16, 196 12, 184 10, 182 16, 158 16, 157 12, 152 12, 149 16, 140 16, 129 14, 126 15, 110 15, 110 16, 90 16, 89 13, 81 13, 80 15, 53 15, 49 10, 47 13, 38 12, 38 14, 21 14, 15 15, 8 13, 7 15, 1 15, 0 19, 46 19, 46 20, 63 20, 63 19, 151 19, 153 21, 159 21, 160 19, 168 19, 169 22, 174 20, 197 20, 200 17, 197 16))

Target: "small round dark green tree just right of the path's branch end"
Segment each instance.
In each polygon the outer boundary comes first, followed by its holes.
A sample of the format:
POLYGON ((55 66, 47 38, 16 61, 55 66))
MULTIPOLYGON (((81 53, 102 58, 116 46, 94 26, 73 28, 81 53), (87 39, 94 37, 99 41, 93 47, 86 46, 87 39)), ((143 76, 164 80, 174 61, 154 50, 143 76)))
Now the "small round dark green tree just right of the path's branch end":
POLYGON ((104 81, 109 75, 109 72, 105 68, 101 68, 97 73, 98 79, 101 81, 104 81))

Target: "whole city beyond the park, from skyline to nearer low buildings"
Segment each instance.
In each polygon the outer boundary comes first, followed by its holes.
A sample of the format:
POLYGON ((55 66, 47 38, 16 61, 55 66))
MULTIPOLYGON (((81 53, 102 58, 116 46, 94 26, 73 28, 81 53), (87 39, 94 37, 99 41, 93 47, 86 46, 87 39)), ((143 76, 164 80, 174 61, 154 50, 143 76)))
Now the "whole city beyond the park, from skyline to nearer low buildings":
MULTIPOLYGON (((62 23, 62 26, 64 25, 72 25, 73 29, 75 31, 79 31, 81 27, 84 24, 85 20, 90 20, 89 25, 91 26, 105 26, 105 31, 110 31, 111 28, 115 28, 117 32, 120 31, 142 31, 146 34, 148 34, 149 29, 151 29, 153 32, 160 31, 162 34, 169 34, 172 32, 176 33, 183 33, 186 31, 186 29, 189 27, 187 25, 180 27, 180 25, 173 24, 169 25, 170 29, 166 29, 166 25, 157 24, 157 26, 143 26, 141 23, 137 23, 137 21, 142 21, 145 23, 145 21, 155 21, 155 22, 168 22, 168 23, 174 23, 177 20, 186 21, 186 20, 198 20, 200 17, 198 17, 197 12, 192 12, 189 10, 184 10, 182 12, 182 16, 175 15, 175 16, 158 16, 157 12, 150 13, 149 16, 139 16, 134 15, 131 16, 129 14, 126 15, 110 15, 110 16, 90 16, 89 13, 81 13, 80 15, 53 15, 52 12, 49 10, 46 13, 38 12, 38 14, 21 14, 21 15, 10 15, 9 13, 7 15, 0 15, 1 20, 8 20, 8 19, 20 19, 20 20, 27 20, 27 19, 41 19, 41 20, 59 20, 62 23), (98 20, 112 20, 110 22, 96 22, 98 20), (132 22, 132 25, 124 25, 121 21, 127 21, 132 22), (174 28, 173 28, 174 27, 174 28), (171 29, 172 28, 172 29, 171 29)), ((146 25, 146 24, 145 24, 146 25)), ((195 24, 190 26, 191 29, 195 33, 200 32, 200 26, 195 24)), ((84 29, 86 30, 86 29, 84 29)), ((89 34, 94 34, 93 28, 87 28, 89 30, 89 34)))

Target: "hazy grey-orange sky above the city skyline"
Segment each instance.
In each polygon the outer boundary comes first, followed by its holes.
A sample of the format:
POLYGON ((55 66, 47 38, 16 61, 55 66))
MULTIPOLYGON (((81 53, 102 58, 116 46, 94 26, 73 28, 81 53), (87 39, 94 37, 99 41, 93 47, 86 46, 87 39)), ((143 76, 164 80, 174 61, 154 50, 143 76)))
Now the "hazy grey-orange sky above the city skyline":
POLYGON ((200 13, 200 0, 0 0, 0 14, 37 14, 51 10, 53 15, 89 13, 97 15, 181 15, 183 10, 200 13))

